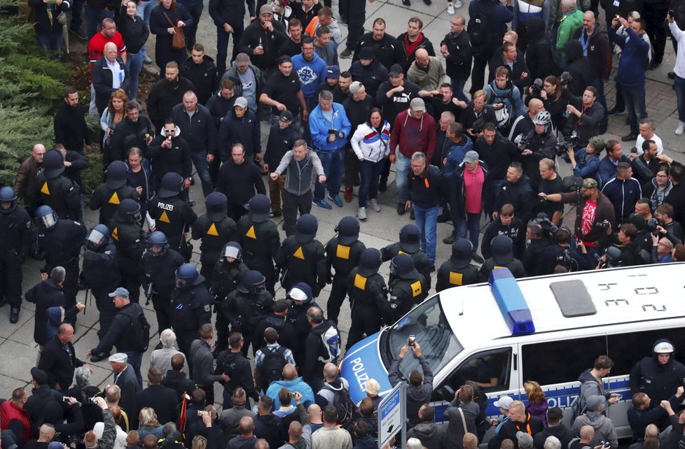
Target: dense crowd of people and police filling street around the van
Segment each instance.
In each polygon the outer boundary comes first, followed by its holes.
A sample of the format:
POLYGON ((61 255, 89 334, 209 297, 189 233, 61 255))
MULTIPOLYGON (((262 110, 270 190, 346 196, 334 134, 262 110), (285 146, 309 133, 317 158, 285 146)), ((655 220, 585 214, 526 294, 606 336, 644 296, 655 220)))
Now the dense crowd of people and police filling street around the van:
MULTIPOLYGON (((378 383, 366 383, 368 398, 350 404, 336 366, 347 297, 345 350, 401 318, 434 282, 439 292, 487 280, 495 267, 522 278, 685 260, 685 167, 664 152, 646 117, 644 90, 646 71, 662 62, 667 31, 674 47, 685 43, 685 3, 602 3, 600 24, 597 1, 472 0, 468 20, 455 15, 462 4, 454 1, 450 32, 434 45, 417 17, 397 38, 385 32, 382 17, 364 34, 364 3, 341 1, 338 19, 349 34, 340 54, 330 3, 211 0, 214 62, 196 39, 202 1, 85 1, 88 111, 67 87, 55 142, 36 143, 13 188, 0 188, 4 301, 11 323, 19 320, 22 294, 36 304, 39 345, 32 394, 18 388, 2 405, 1 418, 11 421, 1 425, 4 446, 375 447, 378 383), (251 22, 244 27, 246 13, 251 22), (141 67, 152 60, 149 34, 156 36, 161 79, 144 92, 143 108, 136 99, 141 67), (604 83, 612 52, 621 94, 609 109, 604 83), (338 58, 352 58, 348 71, 338 58), (605 141, 609 117, 626 112, 630 134, 605 141), (85 113, 100 117, 102 133, 92 135, 85 113), (265 146, 263 121, 270 127, 265 146), (103 182, 83 192, 83 154, 94 142, 103 182), (560 158, 574 176, 561 178, 560 158), (382 211, 378 195, 388 189, 392 165, 394 210, 415 223, 401 228, 397 243, 366 248, 360 222, 373 225, 382 211), (195 178, 206 206, 199 217, 189 195, 195 178), (345 207, 357 186, 356 218, 346 216, 330 241, 319 242, 312 205, 345 207), (84 204, 99 211, 90 229, 84 204), (576 205, 574 229, 559 227, 564 204, 576 205), (281 216, 283 239, 271 220, 281 216), (452 222, 443 238, 452 255, 442 263, 438 222, 452 222), (199 268, 191 263, 193 240, 200 241, 199 268), (45 260, 41 282, 29 289, 22 286, 26 255, 45 260), (388 261, 386 280, 379 269, 388 261), (275 299, 277 284, 285 299, 275 299), (324 316, 317 297, 328 284, 324 316), (99 341, 83 355, 71 343, 85 307, 79 290, 99 311, 99 341), (156 327, 139 304, 144 298, 156 327), (160 343, 143 389, 151 329, 160 343), (79 357, 108 359, 114 382, 99 392, 79 357), (223 401, 214 399, 216 383, 223 401), (221 413, 215 402, 223 402, 221 413)), ((29 4, 46 49, 59 51, 69 10, 71 31, 81 33, 83 1, 29 4)), ((677 53, 671 75, 680 135, 685 52, 677 53)), ((412 353, 422 359, 418 343, 399 357, 412 353)), ((607 363, 595 371, 607 371, 607 363)), ((427 404, 432 374, 422 366, 408 379, 415 402, 408 447, 455 447, 427 442, 438 436, 427 404)), ((392 382, 403 381, 390 371, 392 382)), ((531 385, 528 407, 546 405, 539 385, 531 385)), ((593 425, 607 406, 600 393, 584 398, 581 412, 595 413, 588 418, 593 427, 574 425, 573 449, 601 446, 593 425)), ((485 424, 473 421, 483 413, 476 397, 482 403, 478 385, 464 385, 450 404, 462 406, 445 412, 447 441, 456 447, 473 449, 483 439, 485 424)), ((633 404, 658 410, 654 400, 650 406, 649 398, 633 397, 633 404)), ((555 409, 538 410, 540 420, 531 424, 523 403, 498 403, 525 434, 553 435, 560 422, 555 409)), ((504 432, 506 420, 494 423, 502 432, 492 449, 560 448, 504 432)), ((648 441, 644 447, 658 448, 648 441)))

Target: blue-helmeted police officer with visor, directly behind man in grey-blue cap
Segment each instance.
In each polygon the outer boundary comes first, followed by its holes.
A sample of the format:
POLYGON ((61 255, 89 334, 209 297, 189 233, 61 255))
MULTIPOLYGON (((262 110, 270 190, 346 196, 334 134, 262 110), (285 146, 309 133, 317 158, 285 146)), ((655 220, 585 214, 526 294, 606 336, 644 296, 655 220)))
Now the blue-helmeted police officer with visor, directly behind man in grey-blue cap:
POLYGON ((109 228, 104 224, 96 224, 85 238, 81 280, 95 297, 95 306, 100 314, 100 329, 97 336, 102 339, 109 331, 116 313, 109 293, 116 289, 121 280, 116 263, 116 247, 111 241, 109 228))

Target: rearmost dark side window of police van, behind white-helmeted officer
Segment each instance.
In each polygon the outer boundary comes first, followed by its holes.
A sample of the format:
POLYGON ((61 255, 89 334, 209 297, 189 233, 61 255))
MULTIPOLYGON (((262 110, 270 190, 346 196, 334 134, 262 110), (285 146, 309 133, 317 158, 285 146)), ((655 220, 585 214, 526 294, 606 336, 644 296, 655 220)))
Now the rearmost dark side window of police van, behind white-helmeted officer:
MULTIPOLYGON (((611 376, 628 376, 632 367, 640 359, 651 355, 654 342, 659 338, 668 338, 673 342, 685 341, 685 328, 677 327, 609 335, 609 352, 607 355, 614 360, 611 376)), ((683 361, 685 348, 682 346, 682 344, 675 346, 675 359, 679 362, 683 361)))

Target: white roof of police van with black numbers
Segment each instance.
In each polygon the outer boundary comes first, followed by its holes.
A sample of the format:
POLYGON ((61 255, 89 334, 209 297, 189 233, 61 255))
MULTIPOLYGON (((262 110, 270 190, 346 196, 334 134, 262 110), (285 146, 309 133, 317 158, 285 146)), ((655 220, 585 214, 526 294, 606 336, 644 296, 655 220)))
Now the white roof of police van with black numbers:
MULTIPOLYGON (((517 285, 530 309, 535 334, 685 316, 683 263, 539 276, 518 280, 517 285), (572 289, 566 288, 557 298, 551 287, 555 283, 571 284, 572 289), (588 292, 586 314, 562 313, 562 306, 582 303, 582 286, 588 292)), ((440 301, 464 347, 512 336, 487 283, 443 291, 440 301)))

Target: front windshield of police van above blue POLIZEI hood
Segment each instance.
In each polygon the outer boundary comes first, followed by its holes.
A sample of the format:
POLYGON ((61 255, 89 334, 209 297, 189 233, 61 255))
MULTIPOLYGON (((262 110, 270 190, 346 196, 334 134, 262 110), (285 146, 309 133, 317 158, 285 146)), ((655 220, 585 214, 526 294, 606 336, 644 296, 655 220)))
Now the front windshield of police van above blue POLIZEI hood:
MULTIPOLYGON (((392 360, 399 355, 400 348, 407 344, 410 335, 415 336, 421 346, 422 355, 434 374, 464 350, 443 313, 439 294, 416 306, 413 311, 386 330, 385 344, 380 347, 384 348, 382 357, 387 369, 390 368, 392 360)), ((413 369, 421 371, 418 359, 413 356, 404 357, 400 363, 402 378, 408 378, 413 369)))

